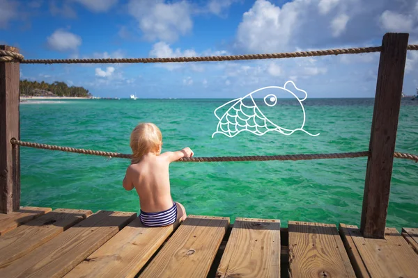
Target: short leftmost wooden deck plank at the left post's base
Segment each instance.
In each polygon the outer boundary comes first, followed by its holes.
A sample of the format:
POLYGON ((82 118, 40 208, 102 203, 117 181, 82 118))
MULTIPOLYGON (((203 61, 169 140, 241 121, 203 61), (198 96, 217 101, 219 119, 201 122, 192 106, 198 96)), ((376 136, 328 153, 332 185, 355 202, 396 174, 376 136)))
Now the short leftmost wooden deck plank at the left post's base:
POLYGON ((38 208, 35 206, 22 206, 20 210, 9 214, 0 214, 0 236, 8 231, 16 229, 20 225, 37 218, 40 215, 49 213, 51 208, 38 208))

